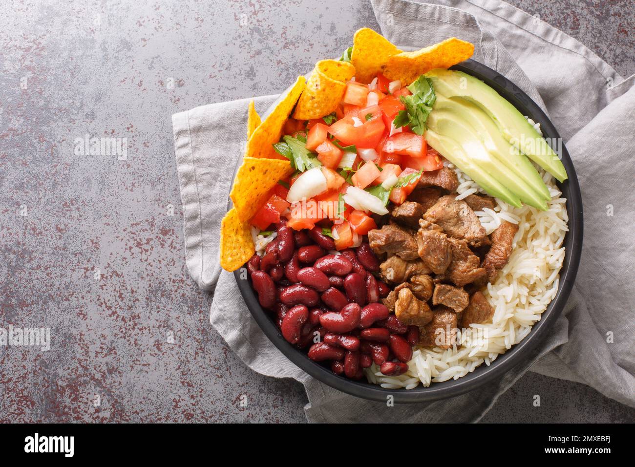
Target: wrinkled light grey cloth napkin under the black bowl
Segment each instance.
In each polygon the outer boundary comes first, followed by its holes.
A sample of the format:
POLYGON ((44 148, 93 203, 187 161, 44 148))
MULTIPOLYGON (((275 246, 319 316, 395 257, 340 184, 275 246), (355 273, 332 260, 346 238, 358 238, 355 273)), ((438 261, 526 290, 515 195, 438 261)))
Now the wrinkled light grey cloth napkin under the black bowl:
MULTIPOLYGON (((474 43, 475 60, 507 76, 549 114, 582 186, 582 262, 565 312, 545 341, 497 381, 419 405, 361 400, 295 367, 260 331, 233 274, 218 261, 220 220, 232 169, 244 149, 245 135, 236 128, 245 128, 240 123, 246 122, 247 99, 173 116, 186 262, 199 286, 214 292, 211 324, 251 369, 302 382, 309 421, 478 421, 528 369, 583 382, 635 407, 635 168, 626 160, 635 142, 635 77, 623 79, 572 37, 500 0, 443 3, 372 0, 382 34, 404 50, 450 36, 474 43)), ((259 113, 275 98, 256 98, 259 113)))

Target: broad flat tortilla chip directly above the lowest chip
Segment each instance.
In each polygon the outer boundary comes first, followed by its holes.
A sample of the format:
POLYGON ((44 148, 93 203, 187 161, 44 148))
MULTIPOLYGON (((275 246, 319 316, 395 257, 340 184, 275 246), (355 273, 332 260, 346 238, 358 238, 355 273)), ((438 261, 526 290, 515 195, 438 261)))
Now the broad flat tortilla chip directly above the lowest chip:
MULTIPOLYGON (((260 128, 260 127, 258 127, 260 128)), ((255 133, 254 133, 255 134, 255 133)), ((289 159, 258 159, 245 157, 238 168, 229 197, 240 220, 249 220, 264 205, 278 180, 291 175, 289 159)))

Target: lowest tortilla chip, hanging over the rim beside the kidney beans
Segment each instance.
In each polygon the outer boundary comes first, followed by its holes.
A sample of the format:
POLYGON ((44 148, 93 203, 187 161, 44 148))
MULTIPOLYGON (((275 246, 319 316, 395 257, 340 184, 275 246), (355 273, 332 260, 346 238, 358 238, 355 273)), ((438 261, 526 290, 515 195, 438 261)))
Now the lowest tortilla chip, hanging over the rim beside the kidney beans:
POLYGON ((220 266, 225 271, 236 271, 253 254, 250 224, 238 219, 236 208, 232 208, 220 223, 220 266))

